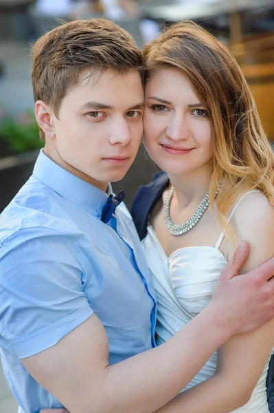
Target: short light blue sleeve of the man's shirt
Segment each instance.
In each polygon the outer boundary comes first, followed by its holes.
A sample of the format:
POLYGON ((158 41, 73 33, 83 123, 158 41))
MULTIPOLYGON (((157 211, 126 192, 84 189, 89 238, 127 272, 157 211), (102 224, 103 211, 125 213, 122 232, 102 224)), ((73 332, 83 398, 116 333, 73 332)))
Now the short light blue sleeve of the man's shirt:
POLYGON ((0 336, 19 358, 54 346, 93 310, 73 237, 21 229, 0 246, 0 336))

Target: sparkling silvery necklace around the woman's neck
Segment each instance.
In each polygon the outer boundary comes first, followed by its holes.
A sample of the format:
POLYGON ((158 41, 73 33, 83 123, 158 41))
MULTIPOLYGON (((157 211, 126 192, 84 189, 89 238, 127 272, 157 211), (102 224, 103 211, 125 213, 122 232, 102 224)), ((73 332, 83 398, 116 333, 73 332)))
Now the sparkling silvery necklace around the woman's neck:
MULTIPOLYGON (((218 195, 218 192, 220 191, 220 186, 222 184, 222 178, 220 179, 220 182, 218 183, 218 187, 215 192, 214 199, 218 195)), ((199 204, 198 208, 190 218, 190 220, 183 222, 183 224, 176 225, 172 221, 170 217, 170 202, 172 200, 174 194, 174 187, 170 187, 170 191, 168 193, 168 197, 166 198, 164 204, 163 204, 163 219, 165 221, 165 228, 168 230, 168 232, 171 235, 183 235, 184 233, 187 233, 190 231, 195 225, 198 224, 198 222, 201 220, 203 217, 203 214, 207 210, 209 206, 209 192, 205 194, 203 197, 203 200, 201 200, 201 203, 199 204)))

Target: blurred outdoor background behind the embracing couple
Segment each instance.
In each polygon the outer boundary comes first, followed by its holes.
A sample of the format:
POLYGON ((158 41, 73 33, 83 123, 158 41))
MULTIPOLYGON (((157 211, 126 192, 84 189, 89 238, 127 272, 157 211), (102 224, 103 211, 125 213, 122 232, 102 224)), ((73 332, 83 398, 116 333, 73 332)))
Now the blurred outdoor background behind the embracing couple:
MULTIPOLYGON (((41 147, 30 45, 62 21, 91 17, 115 21, 139 47, 175 21, 202 25, 236 57, 274 144, 274 0, 0 0, 0 212, 32 173, 41 147)), ((137 187, 156 171, 141 146, 114 191, 124 189, 130 207, 137 187)), ((16 413, 16 407, 0 366, 0 412, 16 413)))

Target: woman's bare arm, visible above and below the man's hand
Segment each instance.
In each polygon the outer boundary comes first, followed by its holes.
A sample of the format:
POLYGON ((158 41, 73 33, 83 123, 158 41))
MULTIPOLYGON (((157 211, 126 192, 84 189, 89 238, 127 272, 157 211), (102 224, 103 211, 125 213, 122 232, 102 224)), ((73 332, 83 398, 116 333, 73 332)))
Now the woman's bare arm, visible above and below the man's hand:
MULTIPOLYGON (((242 272, 260 265, 273 255, 274 208, 264 195, 247 195, 231 224, 237 242, 238 239, 247 240, 251 246, 242 272)), ((228 248, 228 245, 223 248, 228 248)), ((228 253, 232 253, 232 248, 228 253)), ((214 377, 179 394, 157 413, 227 413, 244 405, 260 379, 273 345, 273 320, 254 332, 231 337, 218 349, 218 367, 214 377)))

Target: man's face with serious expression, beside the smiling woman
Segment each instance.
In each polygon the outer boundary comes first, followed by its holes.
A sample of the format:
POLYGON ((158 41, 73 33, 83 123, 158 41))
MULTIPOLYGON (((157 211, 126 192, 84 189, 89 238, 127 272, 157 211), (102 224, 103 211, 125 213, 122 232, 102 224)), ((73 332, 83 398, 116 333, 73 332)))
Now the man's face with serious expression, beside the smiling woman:
POLYGON ((84 72, 52 115, 54 138, 45 153, 79 178, 105 189, 121 180, 137 154, 143 132, 144 90, 137 70, 98 76, 84 72))

